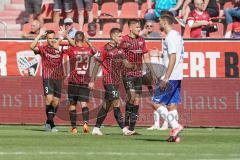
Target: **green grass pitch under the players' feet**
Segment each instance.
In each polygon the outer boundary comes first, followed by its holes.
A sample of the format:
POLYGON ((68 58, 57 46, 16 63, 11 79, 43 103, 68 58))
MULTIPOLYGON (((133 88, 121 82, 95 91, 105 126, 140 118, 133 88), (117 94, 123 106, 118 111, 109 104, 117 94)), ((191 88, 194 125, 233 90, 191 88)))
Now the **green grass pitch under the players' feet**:
POLYGON ((0 126, 0 160, 111 160, 111 159, 240 159, 240 129, 185 129, 180 143, 165 139, 169 131, 147 131, 122 136, 117 127, 104 127, 104 136, 71 135, 69 127, 58 133, 44 132, 42 126, 0 126))

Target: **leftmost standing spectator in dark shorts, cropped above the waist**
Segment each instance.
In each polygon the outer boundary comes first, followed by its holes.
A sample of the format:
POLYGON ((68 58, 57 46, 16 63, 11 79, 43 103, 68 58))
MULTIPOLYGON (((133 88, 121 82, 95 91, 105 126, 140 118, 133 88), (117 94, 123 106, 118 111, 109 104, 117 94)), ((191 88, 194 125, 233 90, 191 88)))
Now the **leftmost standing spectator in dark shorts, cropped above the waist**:
POLYGON ((32 23, 34 19, 38 19, 41 25, 43 25, 43 17, 41 15, 42 0, 24 0, 26 12, 29 15, 29 23, 32 23))

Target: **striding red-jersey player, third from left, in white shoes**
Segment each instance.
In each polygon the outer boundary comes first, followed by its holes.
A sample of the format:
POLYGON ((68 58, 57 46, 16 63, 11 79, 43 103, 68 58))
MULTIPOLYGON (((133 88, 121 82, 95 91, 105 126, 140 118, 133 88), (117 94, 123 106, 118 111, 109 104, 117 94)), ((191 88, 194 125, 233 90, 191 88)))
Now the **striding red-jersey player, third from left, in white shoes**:
POLYGON ((136 65, 130 64, 124 57, 124 51, 120 47, 122 40, 122 31, 119 28, 112 28, 110 31, 111 41, 108 42, 100 51, 100 63, 96 63, 90 86, 93 88, 96 74, 99 65, 103 68, 103 85, 105 89, 105 97, 103 106, 97 115, 96 125, 92 131, 93 135, 102 135, 100 127, 107 116, 111 107, 113 107, 114 117, 117 120, 119 127, 122 129, 123 134, 129 134, 128 129, 124 129, 124 120, 120 110, 120 97, 118 86, 121 82, 122 69, 127 67, 131 70, 136 69, 136 65))

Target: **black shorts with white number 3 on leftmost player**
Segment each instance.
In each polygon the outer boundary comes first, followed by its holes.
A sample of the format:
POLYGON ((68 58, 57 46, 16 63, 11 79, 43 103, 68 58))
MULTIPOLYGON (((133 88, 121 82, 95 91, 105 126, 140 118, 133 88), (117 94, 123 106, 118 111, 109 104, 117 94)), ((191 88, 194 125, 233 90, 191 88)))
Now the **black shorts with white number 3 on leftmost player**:
POLYGON ((53 95, 61 98, 62 80, 61 79, 43 79, 44 95, 53 95))

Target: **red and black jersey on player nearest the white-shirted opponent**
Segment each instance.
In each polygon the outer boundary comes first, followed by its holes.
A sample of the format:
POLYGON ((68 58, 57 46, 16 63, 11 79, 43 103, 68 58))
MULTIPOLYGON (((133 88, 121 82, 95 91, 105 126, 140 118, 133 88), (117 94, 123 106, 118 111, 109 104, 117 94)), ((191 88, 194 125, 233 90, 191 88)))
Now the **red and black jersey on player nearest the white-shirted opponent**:
POLYGON ((126 59, 137 65, 137 70, 125 68, 123 71, 124 75, 132 77, 142 76, 142 57, 148 52, 146 43, 143 37, 132 38, 128 35, 123 36, 121 42, 121 48, 124 50, 126 59))

